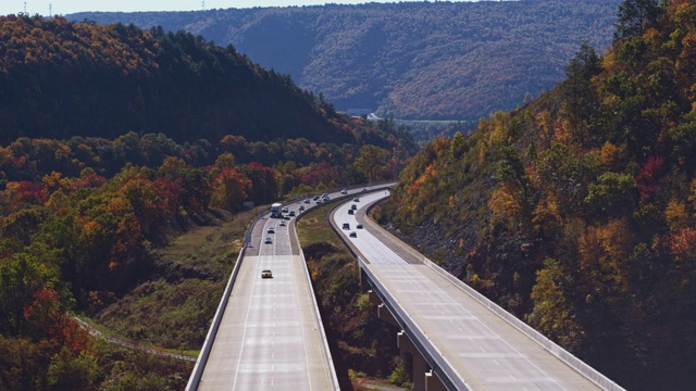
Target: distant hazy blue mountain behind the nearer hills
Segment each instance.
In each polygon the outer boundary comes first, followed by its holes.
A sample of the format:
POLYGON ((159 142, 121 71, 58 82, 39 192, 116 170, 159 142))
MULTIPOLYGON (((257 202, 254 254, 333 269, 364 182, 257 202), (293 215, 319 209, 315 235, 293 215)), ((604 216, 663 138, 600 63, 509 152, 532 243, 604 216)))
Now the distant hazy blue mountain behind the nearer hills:
POLYGON ((399 2, 69 17, 161 25, 232 43, 341 111, 471 121, 550 89, 583 41, 604 51, 619 3, 399 2))

